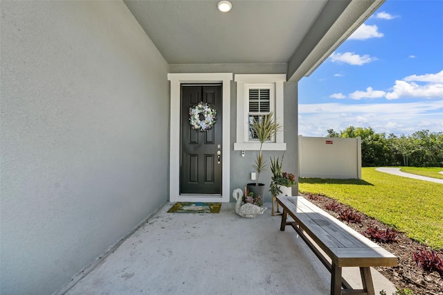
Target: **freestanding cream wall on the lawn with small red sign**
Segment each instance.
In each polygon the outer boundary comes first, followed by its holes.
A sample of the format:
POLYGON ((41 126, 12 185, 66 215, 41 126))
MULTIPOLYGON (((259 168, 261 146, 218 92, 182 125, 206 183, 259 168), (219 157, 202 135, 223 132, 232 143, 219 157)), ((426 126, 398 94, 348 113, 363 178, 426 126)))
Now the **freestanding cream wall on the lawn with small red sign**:
POLYGON ((298 136, 298 175, 361 179, 361 138, 298 136))

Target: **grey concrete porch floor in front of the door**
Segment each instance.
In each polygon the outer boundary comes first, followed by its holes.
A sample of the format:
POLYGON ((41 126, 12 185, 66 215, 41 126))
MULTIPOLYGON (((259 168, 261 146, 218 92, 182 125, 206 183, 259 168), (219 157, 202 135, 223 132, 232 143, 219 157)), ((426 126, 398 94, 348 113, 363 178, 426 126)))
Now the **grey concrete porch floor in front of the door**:
MULTIPOLYGON (((173 204, 60 294, 329 294, 329 272, 293 229, 280 231, 271 204, 255 219, 234 203, 219 214, 167 213, 173 204)), ((358 269, 343 275, 361 285, 358 269)), ((395 292, 374 269, 372 278, 376 294, 395 292)))

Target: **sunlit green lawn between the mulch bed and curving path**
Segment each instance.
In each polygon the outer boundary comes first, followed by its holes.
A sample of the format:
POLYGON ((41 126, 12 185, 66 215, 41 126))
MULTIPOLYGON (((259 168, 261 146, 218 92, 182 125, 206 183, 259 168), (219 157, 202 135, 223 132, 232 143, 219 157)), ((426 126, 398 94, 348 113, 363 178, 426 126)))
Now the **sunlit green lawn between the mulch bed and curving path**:
POLYGON ((322 194, 443 249, 443 185, 362 168, 362 180, 300 178, 300 193, 322 194))

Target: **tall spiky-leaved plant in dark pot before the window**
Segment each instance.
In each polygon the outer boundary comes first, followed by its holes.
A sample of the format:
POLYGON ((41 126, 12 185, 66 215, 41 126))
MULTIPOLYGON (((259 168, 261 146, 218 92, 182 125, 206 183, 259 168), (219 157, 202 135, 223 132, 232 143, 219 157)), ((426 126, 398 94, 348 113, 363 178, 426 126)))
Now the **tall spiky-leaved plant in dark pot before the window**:
POLYGON ((267 168, 266 160, 263 158, 263 143, 275 136, 275 134, 280 132, 281 129, 281 125, 275 122, 273 119, 272 111, 266 116, 260 116, 258 120, 253 117, 253 121, 251 123, 251 131, 253 134, 256 134, 258 141, 260 141, 260 150, 257 152, 255 163, 252 166, 255 172, 257 172, 255 183, 247 184, 247 186, 248 191, 252 191, 254 195, 259 195, 262 198, 264 197, 264 184, 260 184, 259 179, 260 173, 265 171, 267 168))

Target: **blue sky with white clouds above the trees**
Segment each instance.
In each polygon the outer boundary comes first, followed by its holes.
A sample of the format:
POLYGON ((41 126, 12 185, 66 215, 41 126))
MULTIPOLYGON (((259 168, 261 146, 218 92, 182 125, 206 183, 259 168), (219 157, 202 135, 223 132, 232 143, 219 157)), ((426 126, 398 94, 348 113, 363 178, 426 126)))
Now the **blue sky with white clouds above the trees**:
POLYGON ((298 84, 298 134, 443 132, 443 0, 387 0, 298 84))

